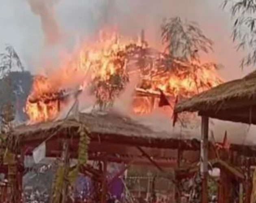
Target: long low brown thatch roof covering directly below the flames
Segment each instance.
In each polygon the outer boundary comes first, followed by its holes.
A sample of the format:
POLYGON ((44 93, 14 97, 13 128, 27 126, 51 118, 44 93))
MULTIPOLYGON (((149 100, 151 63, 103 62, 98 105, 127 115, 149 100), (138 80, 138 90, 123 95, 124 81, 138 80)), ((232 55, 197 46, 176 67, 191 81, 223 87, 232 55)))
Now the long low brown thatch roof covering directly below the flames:
MULTIPOLYGON (((22 125, 14 129, 13 134, 23 142, 43 140, 52 134, 79 136, 77 132, 83 123, 90 133, 91 139, 125 143, 127 145, 141 145, 145 147, 177 148, 178 135, 167 132, 155 132, 150 127, 142 125, 129 117, 106 113, 80 113, 79 122, 74 119, 64 119, 35 125, 22 125)), ((199 142, 183 142, 185 149, 197 149, 199 142)))

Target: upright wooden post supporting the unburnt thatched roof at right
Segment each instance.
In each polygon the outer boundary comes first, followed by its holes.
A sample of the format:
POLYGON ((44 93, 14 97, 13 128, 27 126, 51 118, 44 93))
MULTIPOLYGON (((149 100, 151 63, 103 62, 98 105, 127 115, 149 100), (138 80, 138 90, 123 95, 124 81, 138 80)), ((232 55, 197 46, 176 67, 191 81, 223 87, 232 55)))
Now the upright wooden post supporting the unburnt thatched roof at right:
POLYGON ((201 159, 200 173, 202 177, 202 203, 208 203, 208 126, 209 118, 202 116, 201 124, 201 159))

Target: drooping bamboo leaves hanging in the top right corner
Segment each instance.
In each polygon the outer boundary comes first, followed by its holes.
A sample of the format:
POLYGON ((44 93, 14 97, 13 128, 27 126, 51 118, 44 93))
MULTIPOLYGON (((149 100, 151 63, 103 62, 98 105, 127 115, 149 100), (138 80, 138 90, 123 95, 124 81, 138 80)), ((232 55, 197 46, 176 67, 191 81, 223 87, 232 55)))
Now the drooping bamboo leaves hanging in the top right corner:
POLYGON ((232 39, 237 50, 248 50, 241 67, 256 64, 256 0, 224 0, 223 8, 230 7, 233 17, 232 39))

